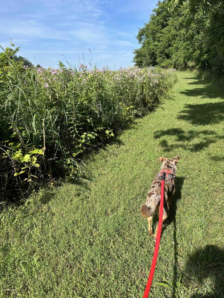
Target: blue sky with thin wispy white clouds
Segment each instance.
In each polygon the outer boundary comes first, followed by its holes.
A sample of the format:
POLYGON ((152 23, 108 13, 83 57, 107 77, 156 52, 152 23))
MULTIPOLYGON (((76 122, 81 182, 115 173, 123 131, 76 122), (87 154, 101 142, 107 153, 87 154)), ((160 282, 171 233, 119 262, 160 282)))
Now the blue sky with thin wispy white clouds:
POLYGON ((20 47, 19 55, 35 65, 133 64, 138 27, 147 22, 155 0, 11 0, 0 6, 0 45, 20 47), (89 52, 92 52, 93 58, 89 52), (64 55, 65 58, 61 55, 64 55), (34 59, 35 57, 35 59, 34 59))

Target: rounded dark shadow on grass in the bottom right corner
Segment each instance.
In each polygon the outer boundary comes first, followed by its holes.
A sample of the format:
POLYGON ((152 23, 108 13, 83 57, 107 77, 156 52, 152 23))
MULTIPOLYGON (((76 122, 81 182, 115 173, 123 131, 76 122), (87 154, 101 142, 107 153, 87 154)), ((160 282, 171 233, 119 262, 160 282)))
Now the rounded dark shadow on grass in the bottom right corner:
POLYGON ((206 245, 189 255, 185 264, 185 272, 192 283, 202 287, 191 298, 224 297, 224 249, 215 245, 206 245), (212 280, 210 282, 209 280, 212 280), (203 285, 211 291, 203 293, 203 285))

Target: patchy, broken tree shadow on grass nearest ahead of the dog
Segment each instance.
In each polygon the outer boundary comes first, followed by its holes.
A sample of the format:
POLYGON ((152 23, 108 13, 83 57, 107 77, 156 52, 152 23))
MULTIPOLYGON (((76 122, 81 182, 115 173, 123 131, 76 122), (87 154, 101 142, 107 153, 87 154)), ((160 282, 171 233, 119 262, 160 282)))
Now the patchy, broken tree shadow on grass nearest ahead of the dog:
POLYGON ((191 152, 197 152, 207 148, 210 144, 217 142, 219 139, 224 139, 224 135, 219 135, 213 130, 194 129, 184 131, 181 128, 170 128, 154 132, 155 139, 160 139, 164 136, 174 136, 177 142, 169 144, 166 139, 162 139, 160 145, 165 152, 170 152, 180 147, 185 150, 190 150, 191 152), (200 140, 198 142, 194 142, 199 138, 200 140))

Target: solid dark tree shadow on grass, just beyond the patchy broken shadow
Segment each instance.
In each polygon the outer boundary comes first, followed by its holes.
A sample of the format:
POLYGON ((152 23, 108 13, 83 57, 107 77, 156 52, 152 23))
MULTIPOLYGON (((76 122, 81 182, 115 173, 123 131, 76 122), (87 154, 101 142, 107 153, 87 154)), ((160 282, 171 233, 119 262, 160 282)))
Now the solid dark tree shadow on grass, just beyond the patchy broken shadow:
MULTIPOLYGON (((194 89, 189 91, 197 95, 194 89)), ((179 112, 177 119, 188 121, 193 125, 217 124, 224 119, 224 101, 185 105, 185 109, 179 112)))

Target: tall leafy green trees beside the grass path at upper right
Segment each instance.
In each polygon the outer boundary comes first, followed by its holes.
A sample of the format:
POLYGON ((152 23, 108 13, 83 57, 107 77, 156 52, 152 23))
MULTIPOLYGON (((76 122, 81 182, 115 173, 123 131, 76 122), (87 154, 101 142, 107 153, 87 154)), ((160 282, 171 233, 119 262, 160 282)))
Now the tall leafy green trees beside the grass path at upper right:
POLYGON ((199 68, 224 73, 224 2, 182 1, 170 10, 159 1, 148 23, 139 29, 137 66, 199 68), (192 3, 194 2, 194 3, 192 3))

